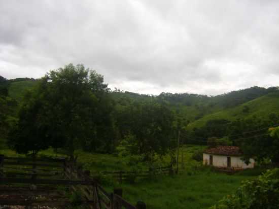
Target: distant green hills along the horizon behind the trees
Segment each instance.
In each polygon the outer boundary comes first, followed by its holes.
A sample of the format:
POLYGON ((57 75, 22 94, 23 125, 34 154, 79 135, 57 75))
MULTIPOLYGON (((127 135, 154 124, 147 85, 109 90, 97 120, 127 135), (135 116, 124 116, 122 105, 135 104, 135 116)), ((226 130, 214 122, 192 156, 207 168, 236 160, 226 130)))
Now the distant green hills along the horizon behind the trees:
MULTIPOLYGON (((20 102, 24 93, 37 83, 38 80, 29 78, 10 80, 9 96, 20 102)), ((254 116, 265 119, 271 113, 279 115, 279 90, 277 87, 254 86, 217 96, 164 92, 153 96, 127 91, 114 91, 111 92, 111 96, 118 107, 128 106, 133 101, 157 100, 165 103, 172 110, 176 121, 180 121, 182 127, 186 127, 189 131, 200 128, 207 121, 215 119, 234 121, 254 116)))

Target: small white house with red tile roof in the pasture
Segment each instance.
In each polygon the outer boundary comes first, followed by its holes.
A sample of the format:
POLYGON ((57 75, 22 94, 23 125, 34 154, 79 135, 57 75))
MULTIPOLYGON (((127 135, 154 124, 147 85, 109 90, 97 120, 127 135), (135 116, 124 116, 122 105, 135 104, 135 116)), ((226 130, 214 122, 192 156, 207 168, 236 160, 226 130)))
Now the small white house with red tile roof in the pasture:
POLYGON ((247 165, 241 157, 243 153, 239 147, 233 146, 218 146, 203 151, 203 164, 213 165, 220 168, 246 169, 255 166, 255 160, 250 159, 247 165))

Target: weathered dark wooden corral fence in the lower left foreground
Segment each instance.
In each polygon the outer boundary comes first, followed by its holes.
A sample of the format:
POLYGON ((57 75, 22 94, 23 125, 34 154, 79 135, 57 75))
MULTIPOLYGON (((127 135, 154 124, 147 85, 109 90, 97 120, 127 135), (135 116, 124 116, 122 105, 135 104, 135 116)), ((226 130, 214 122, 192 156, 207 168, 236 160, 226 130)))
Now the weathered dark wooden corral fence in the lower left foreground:
POLYGON ((0 184, 0 205, 65 208, 71 202, 65 197, 64 191, 57 189, 57 185, 62 185, 69 186, 71 191, 80 191, 83 196, 80 203, 90 208, 146 208, 144 202, 138 201, 134 206, 126 201, 121 188, 114 189, 112 193, 107 192, 90 177, 90 171, 84 171, 76 162, 65 159, 34 160, 0 155, 0 184))

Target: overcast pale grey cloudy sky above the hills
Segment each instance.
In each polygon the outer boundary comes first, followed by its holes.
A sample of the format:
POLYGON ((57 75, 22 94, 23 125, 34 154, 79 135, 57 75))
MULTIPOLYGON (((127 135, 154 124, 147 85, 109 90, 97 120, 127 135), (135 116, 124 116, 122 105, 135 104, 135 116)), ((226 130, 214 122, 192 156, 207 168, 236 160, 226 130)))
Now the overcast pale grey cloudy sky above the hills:
POLYGON ((139 93, 278 86, 279 1, 0 0, 1 76, 68 63, 139 93))

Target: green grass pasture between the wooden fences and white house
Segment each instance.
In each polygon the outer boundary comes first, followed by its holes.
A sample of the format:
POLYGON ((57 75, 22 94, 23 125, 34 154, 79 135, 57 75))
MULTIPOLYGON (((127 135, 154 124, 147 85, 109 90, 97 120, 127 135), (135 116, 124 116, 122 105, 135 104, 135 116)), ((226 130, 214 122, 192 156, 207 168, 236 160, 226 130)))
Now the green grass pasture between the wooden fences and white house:
MULTIPOLYGON (((255 178, 262 170, 247 170, 233 176, 217 173, 200 162, 191 159, 194 151, 204 149, 200 146, 187 146, 182 149, 185 162, 184 169, 180 165, 179 175, 156 176, 152 179, 141 179, 135 183, 119 184, 110 178, 103 182, 108 191, 113 187, 123 188, 123 196, 131 203, 142 200, 147 208, 208 208, 217 203, 223 196, 233 193, 241 181, 255 178)), ((19 156, 11 150, 0 150, 0 154, 19 156)), ((63 156, 55 154, 52 149, 39 153, 47 156, 63 156)), ((92 173, 101 170, 127 169, 123 160, 114 155, 91 154, 77 151, 78 161, 84 169, 92 173)), ((182 153, 181 153, 182 154, 182 153)), ((181 160, 181 158, 180 158, 181 160)))

